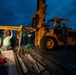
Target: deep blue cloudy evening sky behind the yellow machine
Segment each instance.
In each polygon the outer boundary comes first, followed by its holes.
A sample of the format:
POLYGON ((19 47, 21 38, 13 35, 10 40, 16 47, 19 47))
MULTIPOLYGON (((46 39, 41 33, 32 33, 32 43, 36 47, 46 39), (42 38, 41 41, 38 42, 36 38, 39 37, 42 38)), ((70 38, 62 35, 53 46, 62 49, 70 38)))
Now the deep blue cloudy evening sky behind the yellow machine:
MULTIPOLYGON (((46 21, 55 17, 69 19, 76 30, 76 0, 46 0, 46 21)), ((29 25, 36 12, 36 0, 0 0, 0 25, 29 25)))

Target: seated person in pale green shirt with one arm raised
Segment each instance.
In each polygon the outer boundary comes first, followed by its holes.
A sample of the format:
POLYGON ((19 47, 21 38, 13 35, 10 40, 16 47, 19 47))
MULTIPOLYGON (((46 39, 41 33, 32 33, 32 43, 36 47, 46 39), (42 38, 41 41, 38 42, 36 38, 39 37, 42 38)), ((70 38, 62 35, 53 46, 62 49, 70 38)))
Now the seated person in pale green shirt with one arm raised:
POLYGON ((11 49, 11 38, 13 37, 12 31, 6 31, 6 37, 3 39, 2 50, 11 49))

